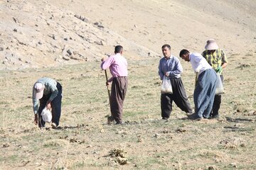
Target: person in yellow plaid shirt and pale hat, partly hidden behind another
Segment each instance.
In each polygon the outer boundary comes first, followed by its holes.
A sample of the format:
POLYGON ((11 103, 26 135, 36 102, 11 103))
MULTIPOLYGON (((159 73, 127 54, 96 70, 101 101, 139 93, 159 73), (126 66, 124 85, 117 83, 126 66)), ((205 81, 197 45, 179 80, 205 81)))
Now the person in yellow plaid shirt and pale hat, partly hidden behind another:
MULTIPOLYGON (((207 40, 205 51, 202 55, 206 58, 206 61, 215 70, 216 73, 220 74, 220 79, 223 83, 223 69, 227 67, 228 62, 225 52, 220 49, 214 39, 207 40)), ((214 97, 213 110, 210 113, 210 118, 219 118, 219 109, 221 103, 221 94, 217 94, 214 97)))

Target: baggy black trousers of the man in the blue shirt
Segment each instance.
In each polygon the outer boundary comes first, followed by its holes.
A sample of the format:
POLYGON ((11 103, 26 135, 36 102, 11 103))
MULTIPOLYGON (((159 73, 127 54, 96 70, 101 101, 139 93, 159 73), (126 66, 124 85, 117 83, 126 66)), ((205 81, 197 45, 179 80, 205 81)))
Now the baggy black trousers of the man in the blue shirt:
POLYGON ((173 94, 161 94, 161 117, 170 118, 172 111, 172 102, 176 103, 181 111, 186 113, 192 113, 191 104, 186 96, 186 91, 184 89, 181 78, 170 79, 171 86, 173 89, 173 94))

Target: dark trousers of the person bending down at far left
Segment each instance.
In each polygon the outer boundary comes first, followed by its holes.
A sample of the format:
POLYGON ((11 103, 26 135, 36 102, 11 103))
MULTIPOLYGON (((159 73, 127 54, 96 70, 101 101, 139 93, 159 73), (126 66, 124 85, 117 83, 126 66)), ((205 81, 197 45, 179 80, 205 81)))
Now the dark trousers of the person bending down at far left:
MULTIPOLYGON (((58 95, 53 99, 53 101, 50 102, 51 108, 52 108, 52 122, 56 123, 56 125, 59 125, 60 122, 60 113, 61 113, 61 98, 62 98, 62 86, 57 82, 57 89, 58 89, 58 95)), ((43 118, 41 116, 41 113, 43 111, 43 108, 46 107, 46 103, 48 99, 50 98, 51 94, 43 95, 43 97, 39 100, 40 105, 38 108, 38 117, 39 117, 39 127, 44 127, 46 122, 43 121, 43 118)))

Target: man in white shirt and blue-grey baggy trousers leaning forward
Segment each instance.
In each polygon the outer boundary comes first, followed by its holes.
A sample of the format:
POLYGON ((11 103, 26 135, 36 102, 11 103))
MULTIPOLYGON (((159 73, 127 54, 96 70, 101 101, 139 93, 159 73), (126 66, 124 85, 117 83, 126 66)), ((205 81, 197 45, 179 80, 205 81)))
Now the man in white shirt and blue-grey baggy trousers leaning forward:
POLYGON ((188 118, 193 120, 208 118, 213 108, 217 75, 201 54, 183 49, 179 56, 186 62, 191 62, 194 72, 198 75, 193 93, 195 113, 189 115, 188 118))

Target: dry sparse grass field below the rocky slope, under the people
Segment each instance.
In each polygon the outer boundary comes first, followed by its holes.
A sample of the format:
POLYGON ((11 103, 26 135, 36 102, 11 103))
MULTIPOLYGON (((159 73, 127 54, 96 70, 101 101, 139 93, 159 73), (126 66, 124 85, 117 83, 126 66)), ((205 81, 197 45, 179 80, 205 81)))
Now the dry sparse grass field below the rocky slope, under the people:
MULTIPOLYGON (((159 59, 128 60, 125 125, 106 123, 100 62, 2 71, 0 169, 256 169, 256 67, 245 64, 255 57, 234 55, 225 70, 221 118, 203 121, 188 120, 175 104, 171 120, 161 120, 159 59), (63 84, 58 130, 33 125, 31 89, 38 77, 63 84)), ((195 75, 182 64, 191 96, 195 75)))

